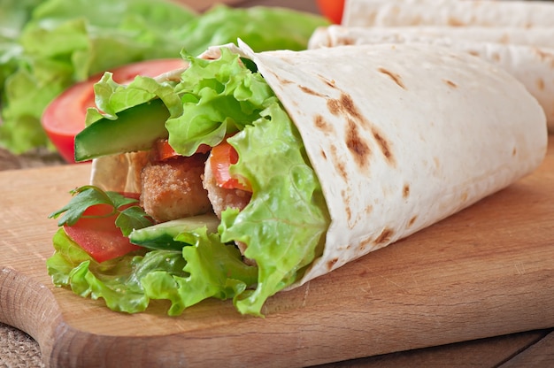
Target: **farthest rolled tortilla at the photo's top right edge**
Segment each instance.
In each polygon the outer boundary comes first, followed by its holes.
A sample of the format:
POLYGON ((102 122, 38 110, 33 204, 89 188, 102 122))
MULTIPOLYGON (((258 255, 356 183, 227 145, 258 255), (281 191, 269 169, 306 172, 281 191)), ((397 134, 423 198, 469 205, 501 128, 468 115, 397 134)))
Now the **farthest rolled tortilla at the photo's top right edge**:
POLYGON ((347 0, 342 26, 552 27, 554 4, 544 1, 347 0))

